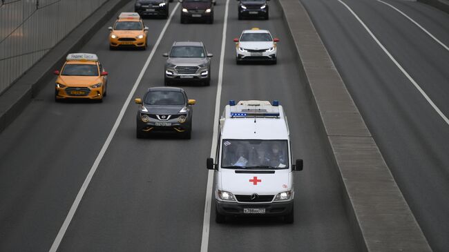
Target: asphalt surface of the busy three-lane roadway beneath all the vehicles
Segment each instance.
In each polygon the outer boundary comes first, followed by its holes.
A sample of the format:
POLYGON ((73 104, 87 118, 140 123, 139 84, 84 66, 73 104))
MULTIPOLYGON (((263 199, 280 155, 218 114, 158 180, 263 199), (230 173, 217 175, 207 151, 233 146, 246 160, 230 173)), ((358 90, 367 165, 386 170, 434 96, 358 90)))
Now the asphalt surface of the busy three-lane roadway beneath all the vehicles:
MULTIPOLYGON (((276 2, 270 2, 269 21, 238 21, 236 9, 237 2, 230 1, 220 110, 229 99, 280 100, 289 117, 293 156, 305 160, 305 169, 295 174, 294 224, 238 218, 218 225, 212 214, 209 251, 358 251, 338 174, 326 156, 276 2), (236 66, 232 39, 251 27, 267 28, 280 38, 277 65, 236 66)), ((131 10, 128 4, 120 12, 131 10)), ((136 139, 137 105, 129 104, 59 251, 200 250, 225 1, 218 2, 213 25, 180 24, 179 12, 133 97, 163 84, 162 53, 173 41, 203 41, 214 55, 211 86, 183 86, 190 99, 197 99, 192 139, 136 139)), ((166 20, 145 22, 152 50, 166 20)), ((96 53, 110 73, 106 100, 55 103, 50 81, 0 134, 0 251, 50 249, 150 55, 151 50, 109 51, 111 23, 81 50, 96 53)))

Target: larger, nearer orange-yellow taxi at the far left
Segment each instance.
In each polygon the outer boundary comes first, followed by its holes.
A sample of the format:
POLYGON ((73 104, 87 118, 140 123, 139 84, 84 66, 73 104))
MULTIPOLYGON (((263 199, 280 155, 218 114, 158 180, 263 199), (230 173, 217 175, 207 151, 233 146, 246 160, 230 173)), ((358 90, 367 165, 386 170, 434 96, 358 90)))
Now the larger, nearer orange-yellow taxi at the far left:
POLYGON ((55 101, 61 99, 93 99, 103 101, 106 97, 108 72, 90 53, 70 53, 57 75, 55 101))

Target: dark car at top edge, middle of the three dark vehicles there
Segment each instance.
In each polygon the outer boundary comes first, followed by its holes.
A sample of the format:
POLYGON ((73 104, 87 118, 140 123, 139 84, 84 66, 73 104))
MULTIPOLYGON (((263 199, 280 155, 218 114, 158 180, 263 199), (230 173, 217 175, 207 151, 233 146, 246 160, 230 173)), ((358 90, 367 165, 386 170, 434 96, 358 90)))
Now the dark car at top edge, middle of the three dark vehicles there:
POLYGON ((212 0, 178 0, 182 3, 181 23, 188 21, 207 21, 213 23, 212 0))

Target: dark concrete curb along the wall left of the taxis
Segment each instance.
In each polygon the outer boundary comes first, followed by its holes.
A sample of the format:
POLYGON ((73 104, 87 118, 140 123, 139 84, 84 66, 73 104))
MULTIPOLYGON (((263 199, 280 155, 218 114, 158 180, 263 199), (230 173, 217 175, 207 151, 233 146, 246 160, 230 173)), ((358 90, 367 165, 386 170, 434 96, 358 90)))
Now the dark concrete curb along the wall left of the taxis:
POLYGON ((64 64, 68 53, 79 50, 95 31, 129 1, 109 0, 104 3, 0 95, 0 133, 52 79, 52 70, 64 64))

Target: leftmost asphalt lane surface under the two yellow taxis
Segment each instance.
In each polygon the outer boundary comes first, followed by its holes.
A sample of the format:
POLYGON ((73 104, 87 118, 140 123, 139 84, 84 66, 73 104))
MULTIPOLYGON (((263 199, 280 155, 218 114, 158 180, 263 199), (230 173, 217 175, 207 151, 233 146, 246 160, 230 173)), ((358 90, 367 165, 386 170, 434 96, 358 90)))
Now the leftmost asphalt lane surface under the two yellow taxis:
MULTIPOLYGON (((122 10, 131 10, 128 4, 122 10)), ((0 134, 0 251, 48 251, 150 50, 108 50, 109 20, 81 51, 110 73, 102 104, 55 103, 54 80, 0 134)), ((146 23, 159 34, 164 20, 146 23)), ((149 38, 151 47, 155 39, 149 38)), ((150 47, 150 48, 151 48, 150 47)))

